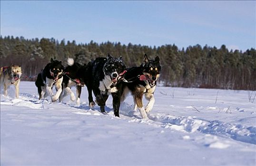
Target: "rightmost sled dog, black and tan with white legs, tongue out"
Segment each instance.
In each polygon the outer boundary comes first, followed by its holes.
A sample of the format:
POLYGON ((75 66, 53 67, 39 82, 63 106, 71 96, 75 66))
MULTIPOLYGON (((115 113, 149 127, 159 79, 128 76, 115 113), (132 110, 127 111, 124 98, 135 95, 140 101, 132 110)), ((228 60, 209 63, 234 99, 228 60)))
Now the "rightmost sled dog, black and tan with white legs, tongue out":
POLYGON ((124 75, 126 82, 123 82, 123 90, 121 101, 125 100, 128 92, 131 92, 134 99, 134 111, 140 111, 142 118, 148 118, 149 111, 152 110, 155 98, 154 92, 156 90, 157 80, 161 73, 160 59, 157 56, 155 60, 148 60, 148 56, 144 55, 143 64, 139 67, 131 67, 127 69, 124 75), (143 94, 149 101, 144 109, 143 94))

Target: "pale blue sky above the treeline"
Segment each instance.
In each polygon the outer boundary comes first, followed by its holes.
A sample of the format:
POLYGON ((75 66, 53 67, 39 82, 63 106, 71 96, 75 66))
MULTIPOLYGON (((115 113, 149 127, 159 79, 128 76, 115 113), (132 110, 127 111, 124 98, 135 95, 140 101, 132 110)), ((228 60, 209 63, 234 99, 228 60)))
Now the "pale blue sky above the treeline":
POLYGON ((256 48, 256 1, 0 1, 0 35, 256 48))

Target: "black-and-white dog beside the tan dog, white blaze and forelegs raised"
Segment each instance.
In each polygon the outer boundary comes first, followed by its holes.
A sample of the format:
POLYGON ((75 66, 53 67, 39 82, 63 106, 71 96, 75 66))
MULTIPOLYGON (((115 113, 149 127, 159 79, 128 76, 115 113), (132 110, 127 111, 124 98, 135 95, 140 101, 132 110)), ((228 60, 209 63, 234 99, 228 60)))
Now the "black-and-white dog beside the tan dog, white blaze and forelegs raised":
POLYGON ((38 88, 39 100, 48 95, 51 97, 51 101, 59 99, 59 95, 62 92, 63 69, 64 66, 61 64, 61 61, 51 58, 50 63, 38 74, 35 84, 38 88), (53 86, 57 90, 55 95, 52 92, 53 86))

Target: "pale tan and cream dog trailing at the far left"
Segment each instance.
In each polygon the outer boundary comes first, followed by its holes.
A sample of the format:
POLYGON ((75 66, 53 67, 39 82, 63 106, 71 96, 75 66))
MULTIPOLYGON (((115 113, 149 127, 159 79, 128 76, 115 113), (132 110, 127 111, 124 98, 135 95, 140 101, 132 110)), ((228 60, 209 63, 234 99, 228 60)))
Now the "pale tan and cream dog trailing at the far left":
POLYGON ((8 95, 8 87, 13 84, 15 86, 15 97, 19 98, 20 92, 20 77, 22 74, 21 66, 12 65, 12 66, 5 66, 1 67, 0 69, 0 82, 1 85, 3 84, 4 95, 8 95))

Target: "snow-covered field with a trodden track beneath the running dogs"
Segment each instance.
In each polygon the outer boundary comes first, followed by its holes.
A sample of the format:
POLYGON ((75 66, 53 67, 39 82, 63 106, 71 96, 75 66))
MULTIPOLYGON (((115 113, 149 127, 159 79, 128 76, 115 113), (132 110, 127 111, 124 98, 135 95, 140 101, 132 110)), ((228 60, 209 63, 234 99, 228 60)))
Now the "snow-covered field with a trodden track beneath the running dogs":
POLYGON ((107 115, 91 110, 86 88, 79 107, 69 97, 37 102, 34 82, 14 95, 12 86, 0 96, 1 166, 256 165, 256 101, 247 91, 158 86, 150 120, 132 111, 131 96, 116 118, 111 97, 107 115))

